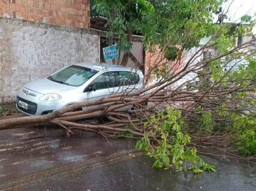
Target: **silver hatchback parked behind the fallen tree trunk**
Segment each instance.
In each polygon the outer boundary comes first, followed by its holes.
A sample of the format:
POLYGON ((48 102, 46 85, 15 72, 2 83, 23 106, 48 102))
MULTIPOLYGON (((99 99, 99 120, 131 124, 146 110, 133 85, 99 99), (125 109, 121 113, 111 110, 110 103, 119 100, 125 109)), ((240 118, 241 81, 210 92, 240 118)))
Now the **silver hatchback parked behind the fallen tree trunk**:
POLYGON ((138 91, 142 86, 141 70, 105 63, 72 64, 48 78, 24 85, 16 106, 27 115, 46 115, 82 101, 138 91))

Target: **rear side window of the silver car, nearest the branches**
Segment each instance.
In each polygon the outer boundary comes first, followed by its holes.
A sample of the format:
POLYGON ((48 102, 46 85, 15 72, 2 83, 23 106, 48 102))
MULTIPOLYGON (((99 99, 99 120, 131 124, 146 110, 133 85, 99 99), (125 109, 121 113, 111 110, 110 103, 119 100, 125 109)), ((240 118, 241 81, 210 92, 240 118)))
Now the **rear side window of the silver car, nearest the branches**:
POLYGON ((133 72, 119 72, 120 76, 120 85, 135 85, 140 81, 140 76, 137 73, 133 72))

